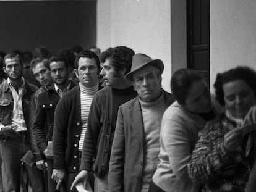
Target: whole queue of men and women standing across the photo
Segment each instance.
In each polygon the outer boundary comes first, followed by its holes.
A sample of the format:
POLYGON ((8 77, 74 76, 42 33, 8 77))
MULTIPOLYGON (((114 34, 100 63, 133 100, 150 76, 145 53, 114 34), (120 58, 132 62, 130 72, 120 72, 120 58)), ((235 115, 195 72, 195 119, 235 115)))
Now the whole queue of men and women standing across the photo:
POLYGON ((180 69, 170 94, 163 62, 126 46, 81 51, 74 71, 61 54, 33 59, 39 89, 22 77, 19 54, 2 62, 4 191, 21 191, 22 167, 38 192, 81 182, 95 192, 255 189, 255 70, 218 73, 213 95, 195 70, 180 69))

